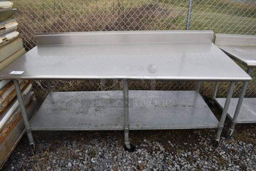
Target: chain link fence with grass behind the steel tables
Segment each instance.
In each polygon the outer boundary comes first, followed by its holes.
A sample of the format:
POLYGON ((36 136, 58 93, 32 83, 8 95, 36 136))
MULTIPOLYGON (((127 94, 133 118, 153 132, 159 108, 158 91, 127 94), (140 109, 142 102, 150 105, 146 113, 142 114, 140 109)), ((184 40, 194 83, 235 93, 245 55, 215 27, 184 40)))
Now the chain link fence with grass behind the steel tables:
MULTIPOLYGON (((256 1, 252 0, 13 0, 18 31, 26 50, 36 46, 37 33, 120 30, 213 30, 214 33, 256 34, 256 1)), ((242 67, 242 66, 241 66, 242 67)), ((243 69, 246 69, 243 67, 243 69)), ((246 97, 256 97, 256 71, 246 97)), ((44 80, 33 81, 38 97, 45 97, 44 80)), ((234 97, 240 94, 237 83, 234 97)), ((121 90, 121 81, 55 80, 53 91, 121 90)), ((219 85, 225 97, 229 83, 219 85)), ((196 82, 130 81, 132 90, 195 90, 196 82)), ((200 93, 211 96, 213 82, 200 93)))

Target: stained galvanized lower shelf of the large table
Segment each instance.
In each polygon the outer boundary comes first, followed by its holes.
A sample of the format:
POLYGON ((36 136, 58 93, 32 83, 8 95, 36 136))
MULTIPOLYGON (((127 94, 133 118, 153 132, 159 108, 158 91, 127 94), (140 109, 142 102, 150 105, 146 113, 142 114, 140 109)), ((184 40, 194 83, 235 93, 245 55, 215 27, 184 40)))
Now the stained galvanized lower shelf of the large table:
MULTIPOLYGON (((130 130, 215 128, 196 91, 129 91, 130 130)), ((49 93, 32 130, 123 130, 123 91, 49 93)))

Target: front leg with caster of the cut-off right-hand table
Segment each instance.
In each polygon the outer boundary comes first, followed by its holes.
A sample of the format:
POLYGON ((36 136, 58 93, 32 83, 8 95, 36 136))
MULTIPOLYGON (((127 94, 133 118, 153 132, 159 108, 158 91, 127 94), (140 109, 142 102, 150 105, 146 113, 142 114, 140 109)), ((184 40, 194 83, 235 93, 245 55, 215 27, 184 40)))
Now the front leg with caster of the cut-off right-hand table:
MULTIPOLYGON (((252 67, 248 67, 248 69, 247 69, 248 75, 251 75, 251 71, 252 71, 252 67)), ((237 123, 238 114, 239 114, 239 111, 240 111, 242 103, 243 103, 244 95, 246 94, 246 88, 247 88, 248 83, 249 83, 249 81, 243 82, 243 87, 242 87, 241 94, 240 94, 239 99, 238 99, 238 104, 235 108, 235 114, 234 114, 234 117, 232 119, 232 123, 230 125, 230 128, 227 131, 226 138, 230 137, 232 135, 232 133, 234 132, 235 124, 237 123)))

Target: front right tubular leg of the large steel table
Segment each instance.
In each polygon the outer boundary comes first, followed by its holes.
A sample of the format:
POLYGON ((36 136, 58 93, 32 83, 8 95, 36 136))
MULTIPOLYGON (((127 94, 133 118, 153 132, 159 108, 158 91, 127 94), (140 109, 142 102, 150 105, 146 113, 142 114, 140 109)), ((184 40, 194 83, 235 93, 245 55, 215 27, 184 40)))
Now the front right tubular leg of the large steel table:
POLYGON ((228 89, 227 98, 226 98, 225 105, 224 105, 224 108, 222 111, 222 115, 221 115, 221 118, 219 121, 218 130, 217 130, 217 134, 216 134, 215 141, 214 141, 214 146, 217 146, 219 144, 220 135, 221 135, 221 132, 222 132, 222 129, 224 126, 226 116, 227 116, 227 109, 229 107, 229 104, 230 104, 230 101, 232 98, 232 93, 233 93, 234 87, 235 87, 235 81, 232 81, 230 83, 230 87, 228 89))

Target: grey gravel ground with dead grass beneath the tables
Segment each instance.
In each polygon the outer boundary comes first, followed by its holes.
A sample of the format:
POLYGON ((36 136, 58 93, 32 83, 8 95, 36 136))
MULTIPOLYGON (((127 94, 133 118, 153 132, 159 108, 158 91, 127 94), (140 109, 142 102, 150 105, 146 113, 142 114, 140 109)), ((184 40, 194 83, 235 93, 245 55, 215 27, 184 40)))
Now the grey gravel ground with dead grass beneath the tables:
POLYGON ((34 131, 37 155, 24 136, 3 170, 255 170, 255 130, 255 124, 237 124, 218 148, 212 146, 214 129, 131 131, 133 153, 124 151, 122 131, 34 131))

